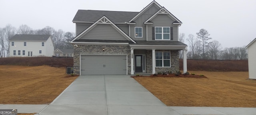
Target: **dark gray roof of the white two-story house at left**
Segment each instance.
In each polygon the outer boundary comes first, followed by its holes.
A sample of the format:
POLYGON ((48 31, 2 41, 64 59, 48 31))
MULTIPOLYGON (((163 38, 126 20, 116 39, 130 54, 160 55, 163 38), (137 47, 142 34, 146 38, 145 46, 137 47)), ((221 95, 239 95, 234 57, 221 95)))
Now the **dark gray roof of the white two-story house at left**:
POLYGON ((46 41, 50 38, 51 35, 27 35, 27 34, 16 34, 13 36, 10 41, 18 40, 18 41, 46 41))

